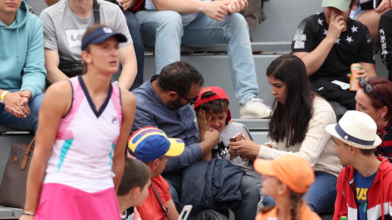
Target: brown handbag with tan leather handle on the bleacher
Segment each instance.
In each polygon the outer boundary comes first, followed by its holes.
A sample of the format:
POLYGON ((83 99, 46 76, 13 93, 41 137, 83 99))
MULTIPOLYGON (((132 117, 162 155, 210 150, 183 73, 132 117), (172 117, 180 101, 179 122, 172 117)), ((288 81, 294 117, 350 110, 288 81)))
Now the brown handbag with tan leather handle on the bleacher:
POLYGON ((27 147, 24 144, 12 144, 0 186, 0 206, 24 208, 34 141, 35 137, 27 147))

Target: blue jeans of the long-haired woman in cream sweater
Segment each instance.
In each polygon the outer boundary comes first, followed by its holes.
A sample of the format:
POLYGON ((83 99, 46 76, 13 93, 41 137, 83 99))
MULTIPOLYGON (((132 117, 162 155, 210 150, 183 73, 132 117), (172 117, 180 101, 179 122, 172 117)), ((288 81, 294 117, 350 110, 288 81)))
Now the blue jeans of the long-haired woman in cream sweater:
MULTIPOLYGON (((310 186, 304 199, 317 214, 334 207, 336 200, 336 182, 338 179, 329 173, 315 172, 316 181, 310 186)), ((264 206, 274 206, 272 197, 264 196, 264 206)))

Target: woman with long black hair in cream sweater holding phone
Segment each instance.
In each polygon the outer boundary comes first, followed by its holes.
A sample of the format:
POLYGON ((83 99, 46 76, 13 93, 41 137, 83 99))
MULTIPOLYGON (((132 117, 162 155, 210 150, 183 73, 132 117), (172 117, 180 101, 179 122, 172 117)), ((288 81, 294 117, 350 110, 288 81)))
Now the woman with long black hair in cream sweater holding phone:
MULTIPOLYGON (((325 131, 328 124, 336 123, 334 110, 312 91, 305 65, 297 56, 285 54, 272 61, 267 77, 276 99, 269 123, 271 141, 260 145, 243 136, 243 141, 229 143, 230 152, 243 160, 272 160, 280 155, 298 155, 307 160, 316 181, 305 200, 314 212, 321 213, 334 205, 336 181, 342 169, 331 135, 325 131)), ((272 204, 271 197, 264 198, 265 206, 272 204)))

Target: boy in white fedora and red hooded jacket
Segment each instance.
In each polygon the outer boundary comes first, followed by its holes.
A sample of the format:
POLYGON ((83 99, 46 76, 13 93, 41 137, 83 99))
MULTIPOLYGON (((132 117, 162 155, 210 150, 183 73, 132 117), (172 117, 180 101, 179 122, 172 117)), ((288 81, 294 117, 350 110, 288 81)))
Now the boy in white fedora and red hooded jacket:
POLYGON ((363 112, 347 111, 338 124, 330 124, 325 130, 334 139, 340 164, 346 166, 336 185, 333 219, 392 219, 392 165, 374 155, 381 139, 373 119, 363 112))

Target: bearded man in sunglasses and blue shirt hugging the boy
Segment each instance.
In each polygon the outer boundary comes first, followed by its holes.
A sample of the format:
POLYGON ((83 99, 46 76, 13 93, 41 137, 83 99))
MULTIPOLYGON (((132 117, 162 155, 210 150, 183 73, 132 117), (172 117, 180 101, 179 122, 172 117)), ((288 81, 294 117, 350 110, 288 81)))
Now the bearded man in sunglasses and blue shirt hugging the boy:
MULTIPOLYGON (((203 76, 195 67, 185 61, 177 61, 163 67, 160 74, 151 76, 149 81, 132 90, 136 99, 136 113, 131 133, 146 126, 153 126, 163 130, 168 137, 179 138, 185 142, 184 152, 178 157, 169 157, 162 173, 162 177, 169 184, 170 194, 178 211, 181 211, 181 169, 199 161, 201 156, 211 151, 220 140, 219 132, 213 128, 205 132, 204 141, 197 143, 195 138, 199 130, 188 104, 193 105, 196 102, 203 84, 203 76)), ((252 206, 256 210, 260 193, 252 193, 254 191, 260 192, 256 181, 243 178, 242 201, 232 209, 234 215, 243 216, 252 206)), ((254 216, 256 213, 252 219, 254 216)))

